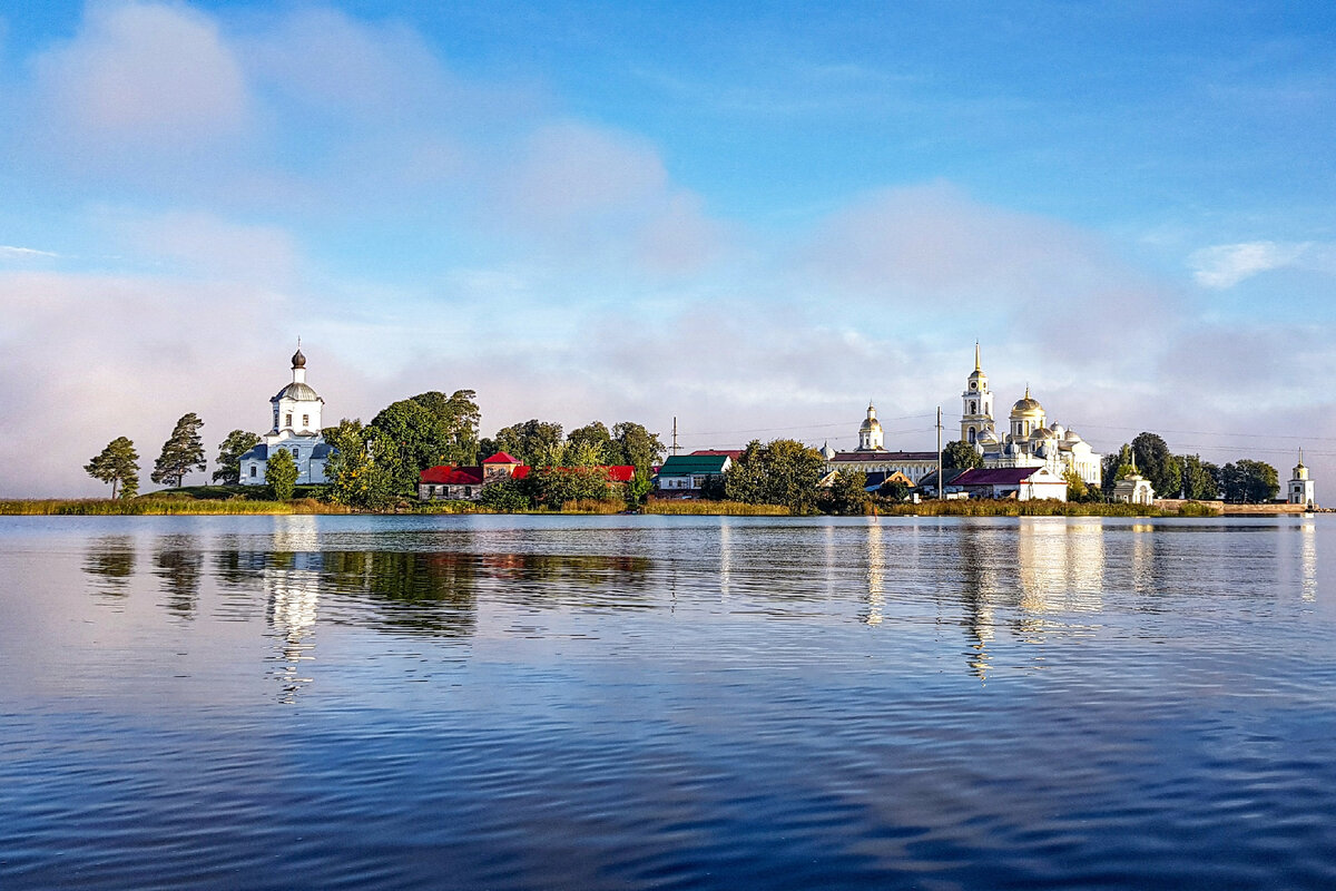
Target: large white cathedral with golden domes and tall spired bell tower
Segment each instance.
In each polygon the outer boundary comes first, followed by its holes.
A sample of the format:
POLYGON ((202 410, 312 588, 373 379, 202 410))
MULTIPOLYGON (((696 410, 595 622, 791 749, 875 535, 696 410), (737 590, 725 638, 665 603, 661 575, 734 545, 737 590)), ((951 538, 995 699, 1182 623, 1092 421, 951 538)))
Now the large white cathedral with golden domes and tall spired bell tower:
POLYGON ((1086 485, 1100 485, 1102 456, 1096 454, 1075 430, 1061 423, 1049 426, 1043 406, 1030 397, 1029 386, 1025 387, 1025 397, 1011 406, 1009 429, 998 431, 993 419, 989 375, 979 365, 978 343, 974 345, 974 371, 961 398, 961 439, 983 456, 985 468, 1047 468, 1057 477, 1075 470, 1086 485))

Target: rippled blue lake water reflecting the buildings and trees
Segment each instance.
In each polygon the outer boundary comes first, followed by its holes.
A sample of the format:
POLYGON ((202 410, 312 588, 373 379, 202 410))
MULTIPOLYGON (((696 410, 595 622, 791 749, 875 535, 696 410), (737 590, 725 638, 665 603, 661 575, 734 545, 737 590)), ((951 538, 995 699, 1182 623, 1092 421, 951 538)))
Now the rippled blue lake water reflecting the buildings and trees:
POLYGON ((0 518, 0 887, 1336 886, 1336 518, 0 518))

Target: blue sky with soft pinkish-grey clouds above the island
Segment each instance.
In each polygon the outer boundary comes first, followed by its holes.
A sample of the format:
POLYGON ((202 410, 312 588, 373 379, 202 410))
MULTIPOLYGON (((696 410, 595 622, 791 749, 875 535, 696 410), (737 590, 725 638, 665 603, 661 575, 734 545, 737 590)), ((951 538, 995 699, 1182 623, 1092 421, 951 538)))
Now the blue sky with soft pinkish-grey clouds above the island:
POLYGON ((1303 446, 1323 501, 1333 44, 1329 3, 0 5, 0 497, 263 433, 299 337, 326 422, 472 389, 484 435, 685 449, 870 401, 934 448, 978 341, 999 415, 1303 446))

